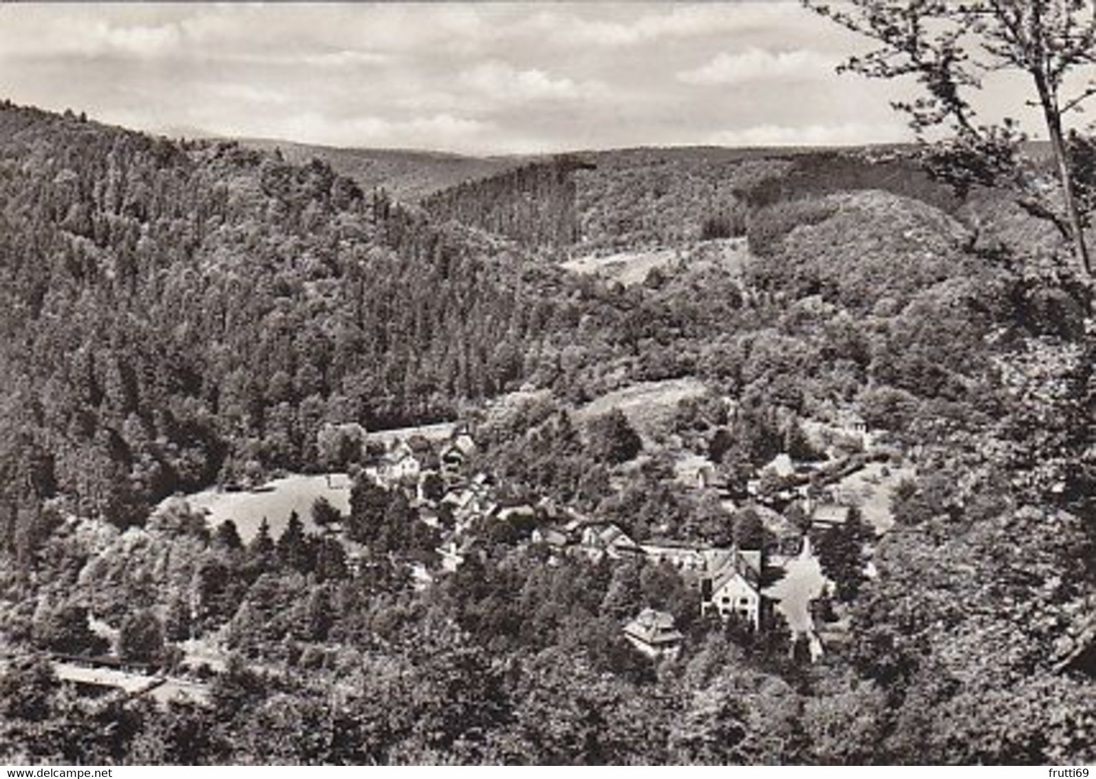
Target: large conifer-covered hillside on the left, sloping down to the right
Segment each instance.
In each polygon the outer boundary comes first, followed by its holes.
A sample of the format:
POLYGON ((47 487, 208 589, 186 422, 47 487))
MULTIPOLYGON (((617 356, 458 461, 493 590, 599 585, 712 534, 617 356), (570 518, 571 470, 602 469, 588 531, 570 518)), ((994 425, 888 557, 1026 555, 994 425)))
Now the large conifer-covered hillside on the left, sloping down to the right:
POLYGON ((496 254, 321 162, 4 104, 5 542, 55 495, 136 522, 176 490, 316 467, 324 420, 499 391, 552 305, 496 254))

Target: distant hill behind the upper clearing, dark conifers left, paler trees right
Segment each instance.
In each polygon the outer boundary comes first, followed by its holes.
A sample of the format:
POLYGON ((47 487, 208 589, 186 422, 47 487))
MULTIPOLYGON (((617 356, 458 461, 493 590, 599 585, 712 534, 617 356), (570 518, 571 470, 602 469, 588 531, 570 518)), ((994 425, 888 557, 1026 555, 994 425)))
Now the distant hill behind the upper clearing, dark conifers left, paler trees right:
POLYGON ((735 188, 777 175, 794 151, 625 149, 525 162, 436 192, 439 219, 503 234, 553 256, 741 234, 735 188))

